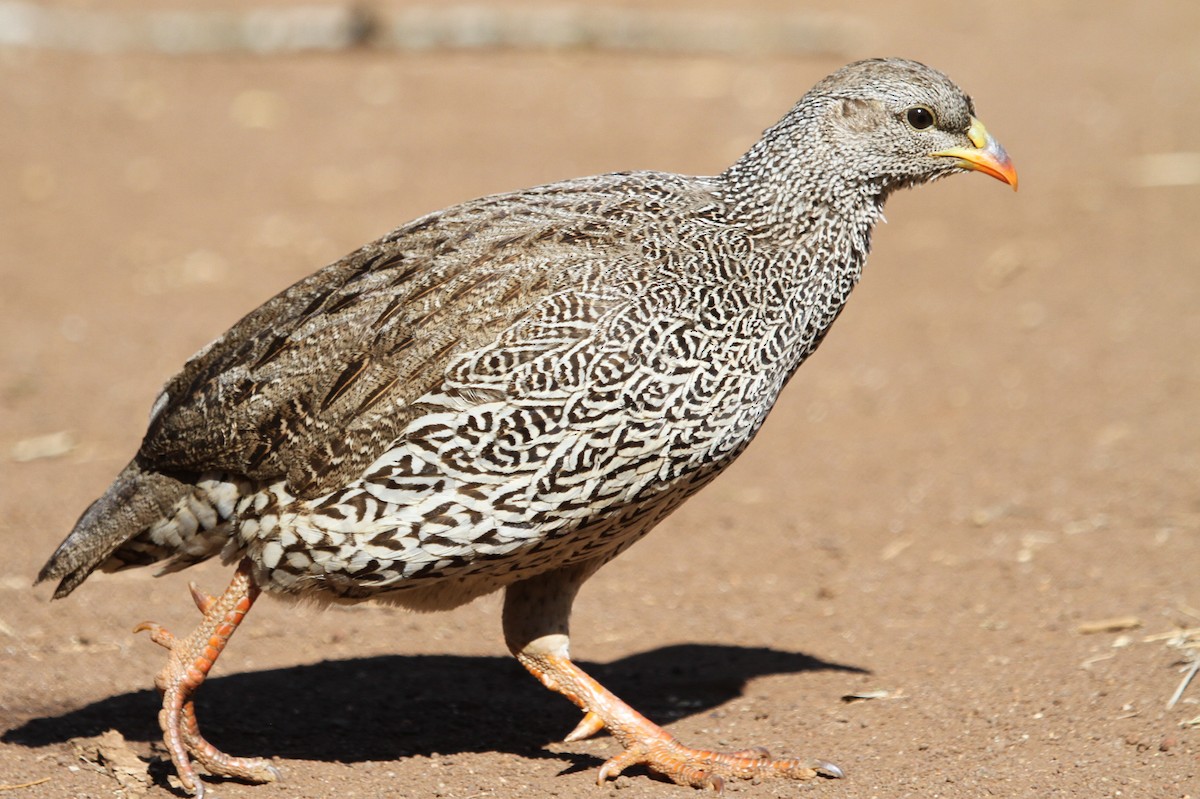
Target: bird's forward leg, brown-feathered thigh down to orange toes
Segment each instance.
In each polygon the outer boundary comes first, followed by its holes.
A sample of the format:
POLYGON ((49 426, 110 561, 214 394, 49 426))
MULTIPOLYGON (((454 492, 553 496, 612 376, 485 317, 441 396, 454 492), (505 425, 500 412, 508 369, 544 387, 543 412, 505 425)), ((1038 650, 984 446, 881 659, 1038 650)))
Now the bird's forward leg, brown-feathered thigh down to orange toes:
POLYGON ((564 569, 510 585, 504 597, 504 637, 512 654, 542 685, 583 709, 583 720, 568 740, 580 740, 607 727, 624 747, 600 768, 598 782, 638 763, 679 785, 718 792, 726 777, 842 776, 833 763, 772 759, 763 749, 715 752, 684 746, 571 662, 568 627, 571 602, 595 567, 588 564, 564 569))

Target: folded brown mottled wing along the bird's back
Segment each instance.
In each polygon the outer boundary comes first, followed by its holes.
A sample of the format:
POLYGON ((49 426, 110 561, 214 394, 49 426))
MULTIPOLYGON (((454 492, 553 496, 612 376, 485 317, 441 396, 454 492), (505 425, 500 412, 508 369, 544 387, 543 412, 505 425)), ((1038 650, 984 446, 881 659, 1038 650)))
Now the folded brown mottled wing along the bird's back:
POLYGON ((420 411, 414 401, 437 388, 455 354, 586 274, 642 260, 618 218, 636 179, 608 175, 458 205, 300 281, 169 382, 138 463, 286 477, 299 497, 343 485, 420 411), (596 226, 610 215, 617 224, 596 226))

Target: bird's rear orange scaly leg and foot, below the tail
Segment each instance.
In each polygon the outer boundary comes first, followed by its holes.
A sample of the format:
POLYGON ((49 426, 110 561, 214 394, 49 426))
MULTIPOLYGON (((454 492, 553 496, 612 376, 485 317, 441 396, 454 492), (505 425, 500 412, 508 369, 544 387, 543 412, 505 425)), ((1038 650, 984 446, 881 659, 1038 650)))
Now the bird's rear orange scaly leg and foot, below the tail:
POLYGON ((197 779, 191 761, 203 765, 209 774, 248 782, 271 782, 278 779, 280 773, 263 758, 232 757, 206 741, 200 735, 192 702, 212 663, 229 643, 229 636, 241 624, 259 594, 251 577, 250 563, 244 560, 238 566, 229 588, 221 596, 209 596, 194 584, 191 590, 192 600, 204 619, 186 638, 176 638, 152 621, 143 621, 133 631, 148 630, 156 644, 170 650, 167 665, 155 677, 155 685, 162 693, 158 725, 180 781, 197 799, 202 799, 204 785, 197 779))

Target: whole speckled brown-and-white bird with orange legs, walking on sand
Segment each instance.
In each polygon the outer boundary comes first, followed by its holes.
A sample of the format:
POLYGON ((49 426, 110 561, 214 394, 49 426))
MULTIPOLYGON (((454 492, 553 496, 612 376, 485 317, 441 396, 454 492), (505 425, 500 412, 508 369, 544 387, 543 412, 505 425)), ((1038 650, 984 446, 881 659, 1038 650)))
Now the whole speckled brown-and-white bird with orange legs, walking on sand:
POLYGON ((152 403, 139 449, 37 576, 210 558, 199 625, 155 678, 163 741, 266 782, 199 731, 193 698, 262 593, 457 607, 504 590, 516 659, 680 785, 839 777, 823 759, 686 746, 580 668, 581 584, 750 444, 859 282, 884 202, 1012 160, 948 77, 906 59, 820 80, 719 175, 624 172, 454 205, 300 280, 200 349, 152 403))

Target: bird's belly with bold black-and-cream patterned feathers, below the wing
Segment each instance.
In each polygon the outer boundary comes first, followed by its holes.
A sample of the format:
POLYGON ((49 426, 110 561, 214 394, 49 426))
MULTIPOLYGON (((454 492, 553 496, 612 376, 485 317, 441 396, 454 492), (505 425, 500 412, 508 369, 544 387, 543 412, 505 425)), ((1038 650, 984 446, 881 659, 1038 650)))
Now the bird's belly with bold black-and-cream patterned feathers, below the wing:
POLYGON ((614 413, 576 426, 564 413, 509 403, 430 414, 350 486, 277 513, 247 506, 239 539, 276 591, 426 594, 436 601, 419 605, 446 607, 614 557, 740 449, 696 434, 727 432, 712 420, 614 413))

